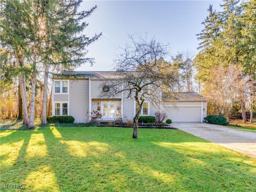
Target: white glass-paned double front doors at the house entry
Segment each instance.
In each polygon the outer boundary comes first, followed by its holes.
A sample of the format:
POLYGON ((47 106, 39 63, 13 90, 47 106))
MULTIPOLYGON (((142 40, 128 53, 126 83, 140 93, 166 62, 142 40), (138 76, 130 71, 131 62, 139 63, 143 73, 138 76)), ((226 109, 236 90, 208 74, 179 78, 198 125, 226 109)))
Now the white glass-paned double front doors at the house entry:
POLYGON ((101 102, 102 119, 114 119, 121 117, 120 101, 104 101, 101 102))

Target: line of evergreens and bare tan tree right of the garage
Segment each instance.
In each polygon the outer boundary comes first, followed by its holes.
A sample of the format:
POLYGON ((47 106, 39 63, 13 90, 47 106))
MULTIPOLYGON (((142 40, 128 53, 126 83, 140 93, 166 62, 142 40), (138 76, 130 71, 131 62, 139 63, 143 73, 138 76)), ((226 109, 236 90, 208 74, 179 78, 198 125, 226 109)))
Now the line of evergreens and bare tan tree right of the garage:
POLYGON ((256 1, 224 0, 220 6, 220 12, 209 6, 197 34, 196 80, 209 99, 209 114, 241 111, 245 123, 246 110, 250 121, 256 111, 256 1))

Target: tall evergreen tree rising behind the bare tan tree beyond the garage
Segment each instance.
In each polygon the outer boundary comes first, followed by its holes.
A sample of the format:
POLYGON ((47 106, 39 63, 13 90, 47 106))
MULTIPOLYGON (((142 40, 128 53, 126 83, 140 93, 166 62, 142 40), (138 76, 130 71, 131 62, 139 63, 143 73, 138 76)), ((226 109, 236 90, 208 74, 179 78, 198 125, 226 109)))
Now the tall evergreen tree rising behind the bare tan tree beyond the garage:
MULTIPOLYGON (((197 78, 205 88, 209 88, 213 82, 211 77, 214 76, 212 75, 214 70, 212 69, 232 65, 236 65, 238 68, 242 67, 243 70, 238 76, 238 81, 246 80, 245 77, 248 76, 248 70, 252 70, 252 66, 245 66, 246 63, 252 62, 253 57, 248 56, 248 47, 253 42, 251 41, 246 45, 247 37, 243 34, 243 31, 255 31, 255 26, 250 25, 252 27, 248 27, 249 24, 244 17, 247 5, 248 2, 240 5, 239 0, 225 0, 224 4, 221 5, 223 8, 221 12, 213 11, 212 5, 210 5, 208 9, 209 16, 202 23, 205 28, 202 33, 198 34, 198 39, 200 40, 198 49, 200 49, 200 53, 198 53, 194 61, 198 71, 197 78)), ((243 120, 246 122, 246 86, 238 94, 243 120)))

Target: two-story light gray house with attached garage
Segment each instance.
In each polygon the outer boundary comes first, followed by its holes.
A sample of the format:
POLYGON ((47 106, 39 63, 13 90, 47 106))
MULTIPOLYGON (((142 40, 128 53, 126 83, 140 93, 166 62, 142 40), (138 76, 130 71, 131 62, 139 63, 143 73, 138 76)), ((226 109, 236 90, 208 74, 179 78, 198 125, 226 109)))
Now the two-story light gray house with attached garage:
MULTIPOLYGON (((116 78, 118 72, 63 71, 53 80, 52 115, 70 115, 76 123, 88 122, 90 112, 100 111, 104 121, 122 117, 133 119, 136 102, 127 99, 125 93, 104 97, 107 92, 106 79, 116 78), (72 76, 76 76, 75 78, 72 76)), ((174 101, 168 102, 167 94, 162 94, 162 111, 173 122, 202 122, 207 115, 207 99, 196 92, 179 92, 174 101)), ((142 116, 154 116, 158 109, 145 102, 142 116)))

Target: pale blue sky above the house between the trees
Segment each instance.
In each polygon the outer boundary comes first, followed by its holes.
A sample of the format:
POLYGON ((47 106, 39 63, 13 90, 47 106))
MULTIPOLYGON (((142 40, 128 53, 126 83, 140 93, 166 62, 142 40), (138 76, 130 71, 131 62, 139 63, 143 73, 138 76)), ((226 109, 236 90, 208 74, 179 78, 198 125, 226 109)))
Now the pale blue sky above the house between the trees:
POLYGON ((110 71, 117 48, 124 47, 129 41, 128 34, 134 33, 170 43, 172 55, 178 51, 196 55, 199 43, 196 34, 204 28, 201 23, 208 15, 209 4, 220 10, 222 1, 83 1, 81 10, 98 6, 86 19, 89 25, 84 33, 88 37, 101 31, 103 34, 88 47, 87 57, 95 58, 94 65, 84 64, 76 71, 110 71))

